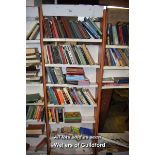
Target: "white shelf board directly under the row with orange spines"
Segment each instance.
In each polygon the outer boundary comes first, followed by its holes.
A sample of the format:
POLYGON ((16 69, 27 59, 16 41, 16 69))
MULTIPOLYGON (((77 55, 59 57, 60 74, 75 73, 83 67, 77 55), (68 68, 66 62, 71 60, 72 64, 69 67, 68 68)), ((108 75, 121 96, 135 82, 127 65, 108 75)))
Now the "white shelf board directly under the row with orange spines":
POLYGON ((79 105, 79 104, 65 104, 65 105, 54 105, 54 104, 48 104, 48 107, 65 107, 65 108, 72 108, 72 107, 97 107, 97 105, 88 105, 88 104, 82 104, 82 105, 79 105))

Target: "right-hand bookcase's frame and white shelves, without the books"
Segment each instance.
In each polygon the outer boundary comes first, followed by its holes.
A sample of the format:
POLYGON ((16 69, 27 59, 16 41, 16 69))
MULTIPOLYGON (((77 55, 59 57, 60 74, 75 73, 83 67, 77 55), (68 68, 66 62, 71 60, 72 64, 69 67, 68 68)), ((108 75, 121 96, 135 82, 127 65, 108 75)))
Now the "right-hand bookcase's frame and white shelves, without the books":
MULTIPOLYGON (((106 9, 104 11, 104 16, 105 16, 105 20, 106 20, 106 25, 105 25, 105 30, 106 30, 108 27, 108 23, 116 24, 117 22, 129 22, 129 19, 128 19, 129 18, 129 9, 128 8, 119 8, 119 7, 106 7, 106 9)), ((103 52, 104 52, 103 55, 104 56, 103 56, 103 61, 101 64, 101 66, 103 68, 103 74, 102 74, 103 79, 104 78, 115 78, 115 77, 116 78, 118 78, 118 77, 129 77, 129 65, 128 66, 106 66, 105 65, 106 49, 115 48, 115 49, 123 49, 123 50, 127 49, 127 50, 129 50, 129 45, 119 45, 119 44, 118 45, 108 45, 107 39, 108 38, 106 35, 104 38, 104 45, 103 45, 103 48, 104 48, 103 49, 103 52)), ((112 91, 113 89, 129 89, 129 84, 102 85, 101 89, 102 89, 103 93, 108 94, 108 92, 112 91)), ((108 95, 107 95, 107 97, 108 97, 108 95)), ((104 111, 103 119, 102 119, 102 122, 103 122, 102 126, 103 126, 105 123, 105 120, 106 120, 106 116, 107 116, 108 111, 109 111, 109 104, 110 103, 108 103, 106 101, 105 102, 102 101, 101 104, 102 104, 102 108, 104 106, 104 110, 102 109, 104 111)), ((117 140, 116 141, 111 140, 111 137, 110 138, 108 137, 109 135, 112 137, 118 136, 118 135, 124 135, 124 133, 98 133, 98 135, 102 135, 104 141, 107 141, 111 144, 117 144, 117 145, 123 146, 124 148, 126 148, 127 151, 129 149, 128 145, 120 144, 119 142, 117 142, 117 140)), ((128 135, 126 136, 126 138, 128 139, 128 135)), ((98 141, 98 143, 101 143, 101 142, 98 141)), ((101 154, 101 153, 102 153, 102 151, 99 151, 99 154, 101 154)))

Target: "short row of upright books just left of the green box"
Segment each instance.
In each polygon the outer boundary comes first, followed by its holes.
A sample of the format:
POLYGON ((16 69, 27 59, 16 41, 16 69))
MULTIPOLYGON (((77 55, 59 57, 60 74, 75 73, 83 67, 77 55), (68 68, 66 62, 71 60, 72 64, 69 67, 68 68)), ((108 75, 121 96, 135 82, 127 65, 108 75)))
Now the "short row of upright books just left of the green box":
POLYGON ((63 108, 49 108, 48 109, 48 116, 49 122, 63 122, 63 108))

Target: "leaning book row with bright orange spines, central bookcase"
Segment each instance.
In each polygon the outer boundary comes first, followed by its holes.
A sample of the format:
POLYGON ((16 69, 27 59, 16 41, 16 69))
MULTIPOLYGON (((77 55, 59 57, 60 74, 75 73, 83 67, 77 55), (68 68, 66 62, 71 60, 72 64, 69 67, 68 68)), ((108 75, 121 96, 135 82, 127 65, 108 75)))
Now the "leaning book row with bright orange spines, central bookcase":
POLYGON ((54 105, 95 105, 89 89, 47 87, 49 104, 54 105))

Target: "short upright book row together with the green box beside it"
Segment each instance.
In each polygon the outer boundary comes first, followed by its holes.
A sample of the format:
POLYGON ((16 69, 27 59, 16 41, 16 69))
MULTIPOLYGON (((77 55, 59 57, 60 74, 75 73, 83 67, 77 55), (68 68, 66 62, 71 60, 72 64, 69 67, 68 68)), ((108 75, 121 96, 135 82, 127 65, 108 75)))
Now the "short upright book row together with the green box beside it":
POLYGON ((80 112, 64 112, 63 108, 48 109, 49 122, 80 123, 82 120, 80 112))

